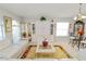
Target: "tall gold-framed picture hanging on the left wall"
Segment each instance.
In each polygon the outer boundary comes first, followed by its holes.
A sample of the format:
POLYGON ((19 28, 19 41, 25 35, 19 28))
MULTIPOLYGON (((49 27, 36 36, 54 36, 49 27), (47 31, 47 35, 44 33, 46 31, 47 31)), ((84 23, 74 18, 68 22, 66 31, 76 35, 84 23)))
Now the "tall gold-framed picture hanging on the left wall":
POLYGON ((5 33, 11 33, 12 31, 12 17, 4 16, 3 21, 4 21, 5 33))

